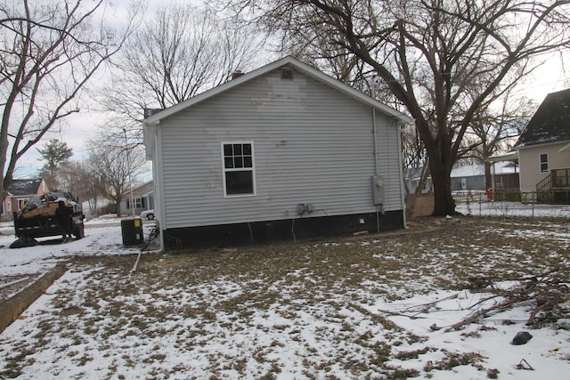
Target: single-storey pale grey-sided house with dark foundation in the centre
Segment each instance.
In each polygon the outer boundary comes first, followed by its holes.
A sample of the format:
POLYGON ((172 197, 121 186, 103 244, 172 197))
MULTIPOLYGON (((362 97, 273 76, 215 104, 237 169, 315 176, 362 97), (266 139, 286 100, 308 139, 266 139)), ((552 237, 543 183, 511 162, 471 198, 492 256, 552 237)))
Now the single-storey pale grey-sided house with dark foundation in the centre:
POLYGON ((292 57, 144 120, 163 248, 404 227, 411 118, 292 57))

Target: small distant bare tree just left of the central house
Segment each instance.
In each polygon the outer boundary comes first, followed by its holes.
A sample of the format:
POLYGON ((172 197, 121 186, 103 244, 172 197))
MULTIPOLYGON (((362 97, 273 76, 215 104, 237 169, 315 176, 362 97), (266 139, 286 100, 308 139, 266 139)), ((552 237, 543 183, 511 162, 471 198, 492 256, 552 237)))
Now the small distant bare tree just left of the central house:
POLYGON ((128 146, 128 142, 115 145, 113 141, 108 135, 89 141, 89 162, 95 177, 101 181, 103 195, 117 204, 120 216, 120 203, 146 161, 141 146, 128 146))

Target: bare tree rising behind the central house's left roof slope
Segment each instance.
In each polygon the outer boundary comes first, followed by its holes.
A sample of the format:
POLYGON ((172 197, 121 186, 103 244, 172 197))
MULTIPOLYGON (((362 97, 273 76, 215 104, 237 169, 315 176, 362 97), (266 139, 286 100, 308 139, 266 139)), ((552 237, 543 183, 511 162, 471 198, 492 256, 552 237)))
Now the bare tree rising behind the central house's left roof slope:
POLYGON ((165 109, 226 82, 258 55, 250 28, 191 4, 159 9, 131 36, 102 97, 121 139, 142 142, 142 109, 165 109))

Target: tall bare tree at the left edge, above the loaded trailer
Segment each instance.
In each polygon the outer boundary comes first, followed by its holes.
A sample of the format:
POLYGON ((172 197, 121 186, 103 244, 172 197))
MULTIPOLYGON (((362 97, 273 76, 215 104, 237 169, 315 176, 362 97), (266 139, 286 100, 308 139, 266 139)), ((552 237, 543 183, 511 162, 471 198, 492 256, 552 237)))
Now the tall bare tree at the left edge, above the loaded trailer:
POLYGON ((0 4, 0 183, 3 198, 18 160, 69 115, 102 65, 118 52, 123 33, 94 19, 104 0, 4 2, 0 4))

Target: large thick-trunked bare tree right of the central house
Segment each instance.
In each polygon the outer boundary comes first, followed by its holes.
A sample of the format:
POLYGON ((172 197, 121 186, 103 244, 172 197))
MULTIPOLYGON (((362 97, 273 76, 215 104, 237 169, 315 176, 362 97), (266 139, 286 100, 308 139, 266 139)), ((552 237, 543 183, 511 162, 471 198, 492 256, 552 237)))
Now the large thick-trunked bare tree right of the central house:
POLYGON ((330 52, 345 49, 369 65, 414 118, 428 153, 434 214, 444 215, 455 212, 450 174, 477 111, 532 72, 533 57, 567 47, 568 4, 233 0, 228 6, 281 33, 284 44, 308 31, 327 41, 330 52))

